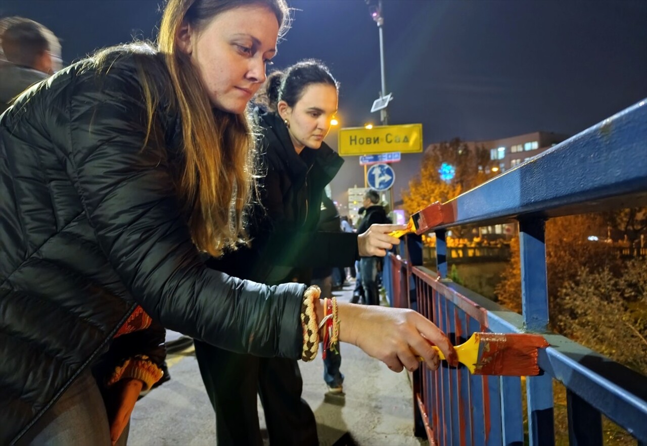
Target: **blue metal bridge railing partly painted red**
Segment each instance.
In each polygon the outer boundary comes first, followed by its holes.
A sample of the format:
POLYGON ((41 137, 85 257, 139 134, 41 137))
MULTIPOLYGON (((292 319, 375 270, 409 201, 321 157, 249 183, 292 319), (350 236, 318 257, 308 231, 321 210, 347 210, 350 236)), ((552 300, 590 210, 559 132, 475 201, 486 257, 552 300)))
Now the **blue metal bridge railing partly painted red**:
MULTIPOLYGON (((647 378, 547 331, 544 240, 547 218, 646 205, 644 100, 443 204, 446 223, 433 228, 437 272, 389 255, 384 277, 391 305, 416 308, 455 343, 488 331, 540 333, 551 344, 540 350, 543 374, 525 380, 472 376, 464 367, 415 372, 417 434, 426 432, 432 445, 522 445, 525 386, 528 441, 553 445, 556 379, 567 389, 571 445, 602 445, 604 414, 647 446, 647 378), (447 228, 514 220, 520 228, 521 315, 445 279, 447 228)), ((400 245, 406 252, 405 242, 400 245)))

